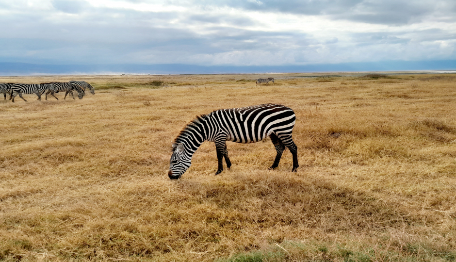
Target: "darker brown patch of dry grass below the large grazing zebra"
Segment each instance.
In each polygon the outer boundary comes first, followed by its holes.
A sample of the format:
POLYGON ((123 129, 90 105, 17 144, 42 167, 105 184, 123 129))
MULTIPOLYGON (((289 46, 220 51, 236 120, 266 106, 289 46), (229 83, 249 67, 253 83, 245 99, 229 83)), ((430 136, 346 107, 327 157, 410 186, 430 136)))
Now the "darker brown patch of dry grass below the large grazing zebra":
POLYGON ((350 233, 400 228, 419 220, 399 201, 377 199, 311 175, 284 173, 181 180, 176 185, 187 200, 223 211, 211 219, 224 228, 254 223, 260 228, 301 226, 350 233))

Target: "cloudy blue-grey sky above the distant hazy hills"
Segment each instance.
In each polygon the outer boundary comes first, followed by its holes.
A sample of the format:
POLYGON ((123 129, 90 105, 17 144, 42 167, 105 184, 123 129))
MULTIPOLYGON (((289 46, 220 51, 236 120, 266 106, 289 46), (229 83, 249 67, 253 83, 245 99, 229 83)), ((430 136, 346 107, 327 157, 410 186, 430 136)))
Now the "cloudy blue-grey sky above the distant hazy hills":
POLYGON ((0 0, 0 62, 309 65, 456 59, 455 0, 0 0))

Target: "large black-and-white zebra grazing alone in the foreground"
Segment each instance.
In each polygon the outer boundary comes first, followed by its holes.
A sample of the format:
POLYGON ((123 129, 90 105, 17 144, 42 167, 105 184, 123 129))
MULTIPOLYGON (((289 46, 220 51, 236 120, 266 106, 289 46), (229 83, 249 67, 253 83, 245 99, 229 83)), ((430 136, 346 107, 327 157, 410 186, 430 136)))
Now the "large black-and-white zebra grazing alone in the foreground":
POLYGON ((208 115, 196 116, 187 124, 172 143, 173 154, 169 161, 168 177, 179 179, 192 164, 192 156, 204 142, 215 143, 218 169, 223 170, 223 158, 231 167, 226 141, 255 143, 267 136, 276 147, 277 155, 269 169, 278 166, 285 147, 293 154, 293 169, 298 168, 298 150, 292 132, 296 116, 291 108, 276 104, 262 104, 241 108, 220 109, 208 115))

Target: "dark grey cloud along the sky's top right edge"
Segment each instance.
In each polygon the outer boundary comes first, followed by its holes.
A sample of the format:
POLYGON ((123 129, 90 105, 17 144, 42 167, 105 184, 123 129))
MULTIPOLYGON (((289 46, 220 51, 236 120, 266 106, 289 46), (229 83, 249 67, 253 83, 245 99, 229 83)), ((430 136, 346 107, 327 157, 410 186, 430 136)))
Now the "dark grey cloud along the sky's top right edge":
MULTIPOLYGON (((246 10, 289 13, 295 15, 328 16, 331 19, 347 19, 372 24, 404 25, 421 21, 431 14, 456 18, 456 2, 453 0, 226 0, 227 6, 246 10)), ((210 1, 206 1, 210 5, 210 1)))

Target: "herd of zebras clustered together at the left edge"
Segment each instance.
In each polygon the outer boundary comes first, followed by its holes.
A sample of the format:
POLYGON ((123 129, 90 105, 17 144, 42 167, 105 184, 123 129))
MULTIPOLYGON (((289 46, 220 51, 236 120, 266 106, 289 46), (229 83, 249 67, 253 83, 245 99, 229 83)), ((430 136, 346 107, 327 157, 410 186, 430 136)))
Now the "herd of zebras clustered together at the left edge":
POLYGON ((49 82, 49 83, 40 83, 40 84, 23 84, 23 83, 0 83, 0 93, 3 93, 4 99, 6 99, 6 94, 10 95, 10 100, 14 103, 14 98, 18 95, 20 98, 22 94, 35 94, 38 99, 41 100, 41 95, 46 92, 46 100, 48 100, 48 95, 54 96, 55 93, 60 91, 65 92, 65 97, 68 93, 73 97, 73 91, 78 92, 78 98, 82 99, 85 95, 85 89, 88 88, 92 95, 95 95, 95 89, 91 84, 85 81, 70 81, 70 82, 49 82))

